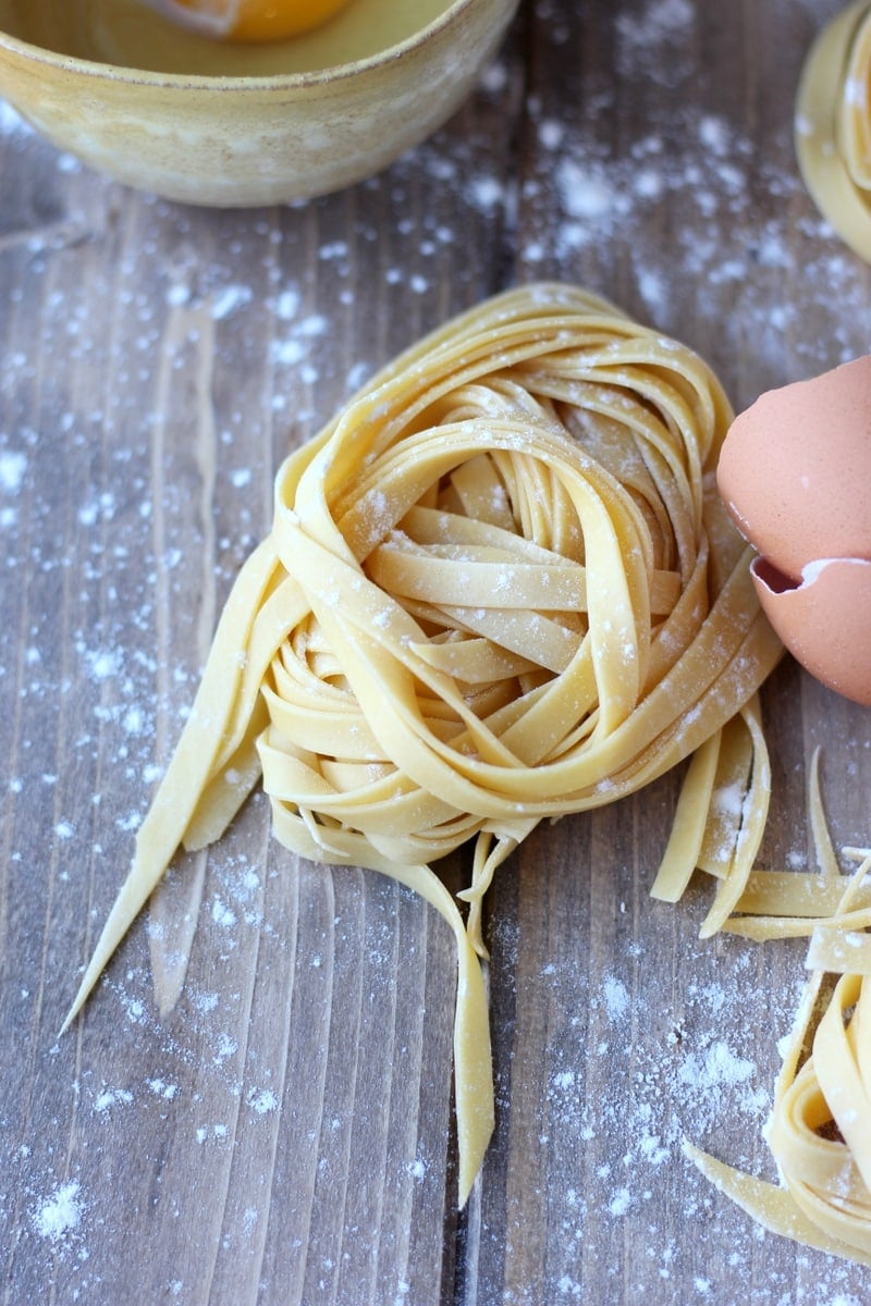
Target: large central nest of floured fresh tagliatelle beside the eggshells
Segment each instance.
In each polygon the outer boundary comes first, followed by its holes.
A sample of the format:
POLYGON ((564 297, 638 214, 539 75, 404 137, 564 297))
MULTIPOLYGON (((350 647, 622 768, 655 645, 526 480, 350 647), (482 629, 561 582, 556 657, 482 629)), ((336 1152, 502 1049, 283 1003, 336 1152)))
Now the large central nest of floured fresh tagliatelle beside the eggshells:
POLYGON ((262 774, 285 845, 394 875, 456 932, 465 1200, 492 1127, 494 871, 542 818, 706 742, 710 763, 780 656, 713 485, 730 418, 689 349, 563 285, 377 375, 278 473, 73 1012, 176 848, 218 837, 262 774), (470 838, 464 919, 431 866, 470 838))

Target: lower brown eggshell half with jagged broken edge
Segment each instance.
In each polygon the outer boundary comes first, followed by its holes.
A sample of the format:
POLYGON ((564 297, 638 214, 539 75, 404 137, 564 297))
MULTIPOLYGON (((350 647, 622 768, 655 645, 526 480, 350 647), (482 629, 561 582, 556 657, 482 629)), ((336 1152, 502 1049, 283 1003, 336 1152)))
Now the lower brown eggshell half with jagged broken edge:
POLYGON ((871 562, 812 563, 793 586, 757 558, 752 577, 763 611, 802 666, 871 707, 871 562))

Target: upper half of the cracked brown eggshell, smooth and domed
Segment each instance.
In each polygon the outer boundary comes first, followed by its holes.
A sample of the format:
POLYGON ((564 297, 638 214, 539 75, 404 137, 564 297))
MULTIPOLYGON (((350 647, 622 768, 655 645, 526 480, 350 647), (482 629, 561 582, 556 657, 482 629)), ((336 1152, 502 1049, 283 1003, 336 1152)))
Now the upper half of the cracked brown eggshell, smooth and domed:
POLYGON ((819 558, 871 559, 871 357, 760 396, 729 430, 717 485, 794 581, 819 558))

